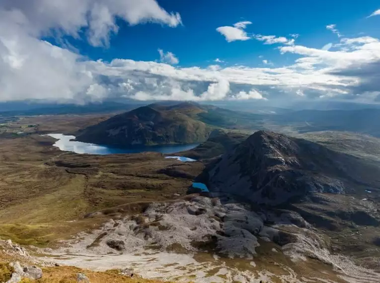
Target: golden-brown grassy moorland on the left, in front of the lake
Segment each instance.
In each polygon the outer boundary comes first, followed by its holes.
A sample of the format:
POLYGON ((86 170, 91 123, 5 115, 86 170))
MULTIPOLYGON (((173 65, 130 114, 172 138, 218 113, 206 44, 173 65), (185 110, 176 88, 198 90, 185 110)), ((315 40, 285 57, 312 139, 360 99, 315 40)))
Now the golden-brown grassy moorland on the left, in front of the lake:
MULTIPOLYGON (((76 124, 76 118, 65 122, 63 117, 32 117, 17 123, 69 133, 101 119, 87 117, 76 124)), ((152 202, 185 194, 192 178, 203 170, 194 162, 185 168, 188 176, 176 177, 160 170, 170 167, 176 174, 184 170, 182 164, 159 153, 75 154, 60 151, 54 142, 40 135, 0 137, 0 237, 52 246, 58 239, 98 227, 106 217, 139 213, 152 202), (83 217, 96 211, 103 214, 83 217)))

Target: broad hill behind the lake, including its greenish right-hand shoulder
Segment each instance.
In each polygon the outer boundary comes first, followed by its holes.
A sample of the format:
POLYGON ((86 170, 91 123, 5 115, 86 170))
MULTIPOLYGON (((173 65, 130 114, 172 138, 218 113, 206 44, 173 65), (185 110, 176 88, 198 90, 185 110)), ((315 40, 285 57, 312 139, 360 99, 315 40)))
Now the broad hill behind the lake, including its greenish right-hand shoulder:
POLYGON ((85 128, 76 140, 118 146, 203 142, 217 128, 250 128, 254 117, 190 102, 156 103, 85 128))

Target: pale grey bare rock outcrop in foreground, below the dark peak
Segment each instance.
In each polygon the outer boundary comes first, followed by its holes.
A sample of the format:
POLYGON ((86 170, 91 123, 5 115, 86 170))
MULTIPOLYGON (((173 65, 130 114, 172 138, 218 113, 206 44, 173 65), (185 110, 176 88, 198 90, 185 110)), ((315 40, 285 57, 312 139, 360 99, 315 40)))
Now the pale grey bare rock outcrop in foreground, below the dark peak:
MULTIPOLYGON (((212 250, 228 257, 252 258, 258 239, 279 245, 297 240, 271 224, 290 225, 295 218, 309 224, 296 212, 251 211, 248 206, 228 203, 227 199, 188 196, 174 203, 152 203, 143 214, 110 220, 100 230, 73 245, 70 252, 112 254, 140 252, 142 247, 171 251, 212 250), (144 221, 141 221, 144 219, 144 221), (92 244, 95 242, 96 245, 92 244)), ((82 238, 82 236, 81 236, 82 238)))

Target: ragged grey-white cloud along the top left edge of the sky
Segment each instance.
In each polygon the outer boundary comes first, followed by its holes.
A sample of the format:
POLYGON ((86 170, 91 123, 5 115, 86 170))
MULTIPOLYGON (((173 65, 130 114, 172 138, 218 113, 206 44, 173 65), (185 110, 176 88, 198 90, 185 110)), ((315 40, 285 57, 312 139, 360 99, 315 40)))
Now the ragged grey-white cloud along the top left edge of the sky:
POLYGON ((82 28, 88 29, 93 46, 109 44, 110 33, 116 33, 116 17, 130 25, 154 22, 176 27, 181 24, 178 13, 168 13, 155 0, 2 0, 2 16, 25 32, 35 36, 47 34, 51 29, 78 37, 82 28))

